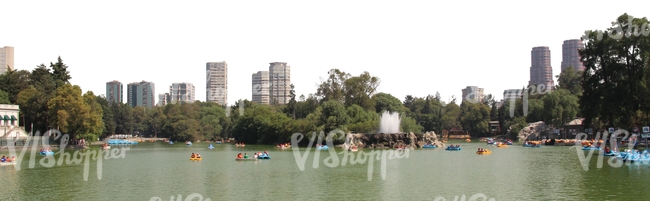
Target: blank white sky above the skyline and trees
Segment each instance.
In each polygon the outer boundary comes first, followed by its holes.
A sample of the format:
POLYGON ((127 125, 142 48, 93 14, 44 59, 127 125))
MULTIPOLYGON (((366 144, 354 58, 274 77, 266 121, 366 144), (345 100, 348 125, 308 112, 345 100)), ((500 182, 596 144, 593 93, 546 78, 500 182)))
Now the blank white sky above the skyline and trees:
POLYGON ((468 85, 501 99, 528 83, 534 46, 550 47, 557 75, 564 40, 650 8, 638 0, 98 2, 1 1, 0 47, 13 46, 15 68, 30 71, 60 55, 71 82, 97 95, 111 80, 152 81, 156 94, 191 82, 205 101, 205 63, 226 61, 230 104, 251 99, 251 74, 270 62, 291 66, 298 95, 339 68, 369 71, 380 92, 400 100, 436 91, 460 100, 468 85))

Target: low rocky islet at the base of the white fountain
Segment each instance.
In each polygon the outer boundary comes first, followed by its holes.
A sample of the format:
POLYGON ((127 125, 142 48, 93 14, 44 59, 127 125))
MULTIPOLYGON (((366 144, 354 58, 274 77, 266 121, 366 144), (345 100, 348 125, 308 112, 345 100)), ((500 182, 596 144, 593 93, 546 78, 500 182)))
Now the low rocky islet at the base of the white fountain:
POLYGON ((395 146, 405 146, 408 148, 421 148, 425 144, 431 143, 438 147, 446 147, 444 143, 438 140, 434 132, 424 134, 414 133, 395 133, 395 134, 348 134, 352 139, 351 146, 359 148, 392 148, 395 146))

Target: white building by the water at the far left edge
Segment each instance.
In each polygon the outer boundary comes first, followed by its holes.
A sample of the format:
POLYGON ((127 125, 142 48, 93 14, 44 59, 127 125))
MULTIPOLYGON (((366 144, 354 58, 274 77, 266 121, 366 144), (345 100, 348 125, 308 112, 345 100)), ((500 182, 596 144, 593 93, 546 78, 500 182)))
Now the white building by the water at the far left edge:
POLYGON ((0 137, 9 140, 29 136, 25 129, 19 126, 19 114, 20 108, 18 105, 0 104, 0 132, 2 132, 0 133, 0 137))

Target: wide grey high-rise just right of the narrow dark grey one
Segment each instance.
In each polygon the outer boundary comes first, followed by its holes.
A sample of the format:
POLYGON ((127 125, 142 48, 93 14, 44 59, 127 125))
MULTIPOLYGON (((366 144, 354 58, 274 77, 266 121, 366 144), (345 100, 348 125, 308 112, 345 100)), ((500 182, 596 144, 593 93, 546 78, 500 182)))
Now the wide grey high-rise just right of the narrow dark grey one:
POLYGON ((127 85, 127 103, 131 107, 145 106, 148 108, 156 104, 156 86, 153 82, 133 82, 127 85))

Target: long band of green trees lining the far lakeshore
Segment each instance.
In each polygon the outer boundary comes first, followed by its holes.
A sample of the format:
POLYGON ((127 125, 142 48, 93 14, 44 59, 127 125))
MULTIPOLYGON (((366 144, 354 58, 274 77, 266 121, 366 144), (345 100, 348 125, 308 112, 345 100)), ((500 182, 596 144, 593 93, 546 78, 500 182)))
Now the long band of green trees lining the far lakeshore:
MULTIPOLYGON (((637 25, 647 31, 647 26, 642 26, 647 24, 646 18, 624 14, 616 22, 619 25, 613 26, 623 30, 637 25)), ((490 121, 498 121, 498 134, 508 138, 514 138, 527 123, 544 121, 560 128, 577 117, 584 117, 585 126, 594 128, 648 125, 648 34, 599 39, 598 31, 587 33, 585 48, 579 51, 585 71, 567 68, 557 76, 558 85, 552 90, 522 86, 524 95, 506 100, 501 107, 491 94, 478 103, 460 100, 460 105, 456 98, 441 100, 437 92, 423 97, 407 95, 400 101, 378 92, 381 81, 369 72, 353 76, 341 69, 328 71, 317 91, 307 96, 296 97, 292 85, 290 101, 284 105, 243 100, 230 110, 201 101, 131 107, 109 103, 90 91, 82 94, 79 86, 69 83, 68 67, 60 57, 49 67, 41 64, 31 72, 14 70, 0 75, 0 103, 20 105, 28 132, 33 124, 35 131, 56 128, 73 139, 90 141, 111 134, 137 134, 174 141, 235 138, 272 144, 289 141, 293 133, 308 137, 312 132, 336 129, 377 133, 384 111, 400 114, 402 132, 440 134, 462 129, 474 137, 489 134, 490 121), (243 114, 238 112, 239 104, 244 104, 243 114)))

